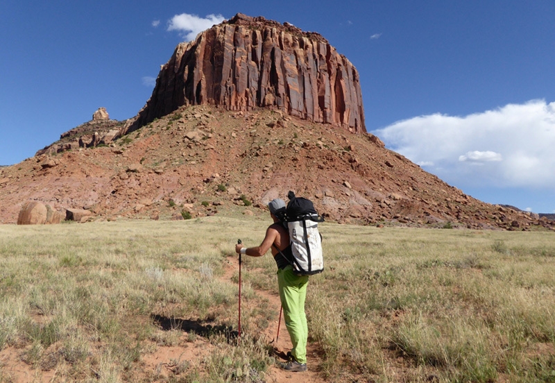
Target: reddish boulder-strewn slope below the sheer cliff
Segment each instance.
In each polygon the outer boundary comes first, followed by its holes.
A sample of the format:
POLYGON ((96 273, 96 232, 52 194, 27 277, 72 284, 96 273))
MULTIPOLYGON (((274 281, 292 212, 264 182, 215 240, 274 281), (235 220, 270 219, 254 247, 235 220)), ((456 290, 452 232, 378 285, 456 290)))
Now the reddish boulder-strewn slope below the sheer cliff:
POLYGON ((89 210, 89 219, 267 214, 265 203, 289 189, 342 223, 553 225, 477 201, 368 133, 265 108, 229 112, 210 105, 184 106, 109 146, 41 154, 0 169, 0 222, 15 223, 29 200, 59 211, 89 210))

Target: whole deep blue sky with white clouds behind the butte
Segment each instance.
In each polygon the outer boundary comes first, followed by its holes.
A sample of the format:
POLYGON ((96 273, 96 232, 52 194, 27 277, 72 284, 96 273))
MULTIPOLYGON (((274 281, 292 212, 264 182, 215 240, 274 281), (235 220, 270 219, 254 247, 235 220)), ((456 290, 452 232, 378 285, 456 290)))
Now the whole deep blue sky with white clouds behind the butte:
POLYGON ((327 38, 388 148, 482 201, 555 212, 553 0, 3 0, 0 164, 99 107, 133 117, 176 45, 237 12, 327 38))

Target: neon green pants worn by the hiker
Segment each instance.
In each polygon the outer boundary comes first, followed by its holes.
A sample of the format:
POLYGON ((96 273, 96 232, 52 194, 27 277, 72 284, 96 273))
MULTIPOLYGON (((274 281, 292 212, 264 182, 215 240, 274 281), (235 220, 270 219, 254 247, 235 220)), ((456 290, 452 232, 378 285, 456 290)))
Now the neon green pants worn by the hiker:
POLYGON ((285 326, 291 337, 291 355, 299 363, 307 362, 308 326, 305 314, 308 275, 296 275, 293 266, 278 270, 278 287, 283 307, 285 326))

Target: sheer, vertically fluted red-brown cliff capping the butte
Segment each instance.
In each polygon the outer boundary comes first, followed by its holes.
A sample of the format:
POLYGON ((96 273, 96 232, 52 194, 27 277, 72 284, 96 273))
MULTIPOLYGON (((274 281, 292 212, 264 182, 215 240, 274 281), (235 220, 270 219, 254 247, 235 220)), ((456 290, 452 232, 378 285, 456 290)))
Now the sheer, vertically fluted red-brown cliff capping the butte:
MULTIPOLYGON (((237 14, 179 44, 128 132, 182 105, 266 107, 366 132, 359 74, 318 33, 237 14)), ((126 133, 128 133, 126 132, 126 133)))

